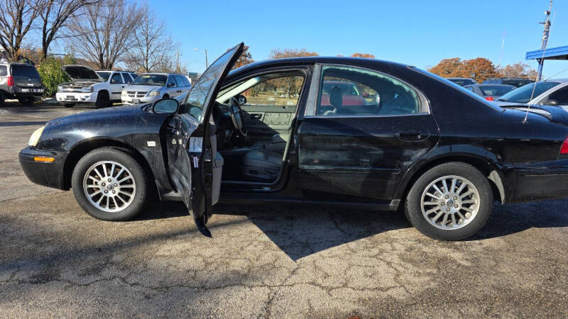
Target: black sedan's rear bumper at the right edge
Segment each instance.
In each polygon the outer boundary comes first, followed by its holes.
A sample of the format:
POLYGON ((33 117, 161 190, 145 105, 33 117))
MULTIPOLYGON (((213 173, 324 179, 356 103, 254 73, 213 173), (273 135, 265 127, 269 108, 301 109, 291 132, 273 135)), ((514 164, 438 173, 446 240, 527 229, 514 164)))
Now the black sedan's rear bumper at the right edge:
POLYGON ((508 203, 568 197, 568 159, 509 166, 505 184, 508 203))

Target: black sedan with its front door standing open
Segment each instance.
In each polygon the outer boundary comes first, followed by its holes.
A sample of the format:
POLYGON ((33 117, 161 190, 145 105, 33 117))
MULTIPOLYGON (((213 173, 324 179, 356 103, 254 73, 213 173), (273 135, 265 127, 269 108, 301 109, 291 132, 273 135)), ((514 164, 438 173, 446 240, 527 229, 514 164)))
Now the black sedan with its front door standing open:
MULTIPOLYGON (((395 211, 441 240, 476 233, 493 201, 568 196, 568 113, 499 107, 415 67, 347 57, 219 57, 182 101, 50 121, 20 153, 31 181, 125 220, 152 194, 197 227, 217 201, 395 211)), ((511 216, 511 218, 514 218, 511 216)))

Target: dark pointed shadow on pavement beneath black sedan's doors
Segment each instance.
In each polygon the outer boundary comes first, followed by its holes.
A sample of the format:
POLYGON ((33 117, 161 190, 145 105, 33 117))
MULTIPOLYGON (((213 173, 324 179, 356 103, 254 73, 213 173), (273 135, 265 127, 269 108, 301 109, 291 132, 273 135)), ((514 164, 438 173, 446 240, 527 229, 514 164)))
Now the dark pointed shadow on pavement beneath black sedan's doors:
POLYGON ((247 216, 294 261, 389 230, 410 227, 400 212, 340 210, 319 205, 219 204, 214 213, 247 216))

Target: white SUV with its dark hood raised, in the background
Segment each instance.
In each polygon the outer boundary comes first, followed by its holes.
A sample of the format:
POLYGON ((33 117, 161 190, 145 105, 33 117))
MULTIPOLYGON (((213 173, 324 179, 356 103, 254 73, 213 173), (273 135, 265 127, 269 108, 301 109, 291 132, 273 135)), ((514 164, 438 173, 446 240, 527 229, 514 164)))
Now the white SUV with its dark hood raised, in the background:
POLYGON ((111 106, 120 101, 122 89, 136 78, 133 72, 95 72, 84 65, 64 65, 62 69, 72 82, 60 84, 55 98, 68 108, 77 103, 94 104, 96 108, 111 106))

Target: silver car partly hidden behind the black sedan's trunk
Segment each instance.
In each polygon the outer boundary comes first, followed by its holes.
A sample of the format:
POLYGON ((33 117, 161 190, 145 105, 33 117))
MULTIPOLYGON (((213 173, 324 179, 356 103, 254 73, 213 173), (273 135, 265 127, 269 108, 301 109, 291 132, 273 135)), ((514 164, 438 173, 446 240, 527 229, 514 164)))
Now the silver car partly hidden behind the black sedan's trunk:
POLYGON ((496 102, 508 105, 562 106, 568 111, 568 79, 550 79, 521 86, 504 94, 496 102))

